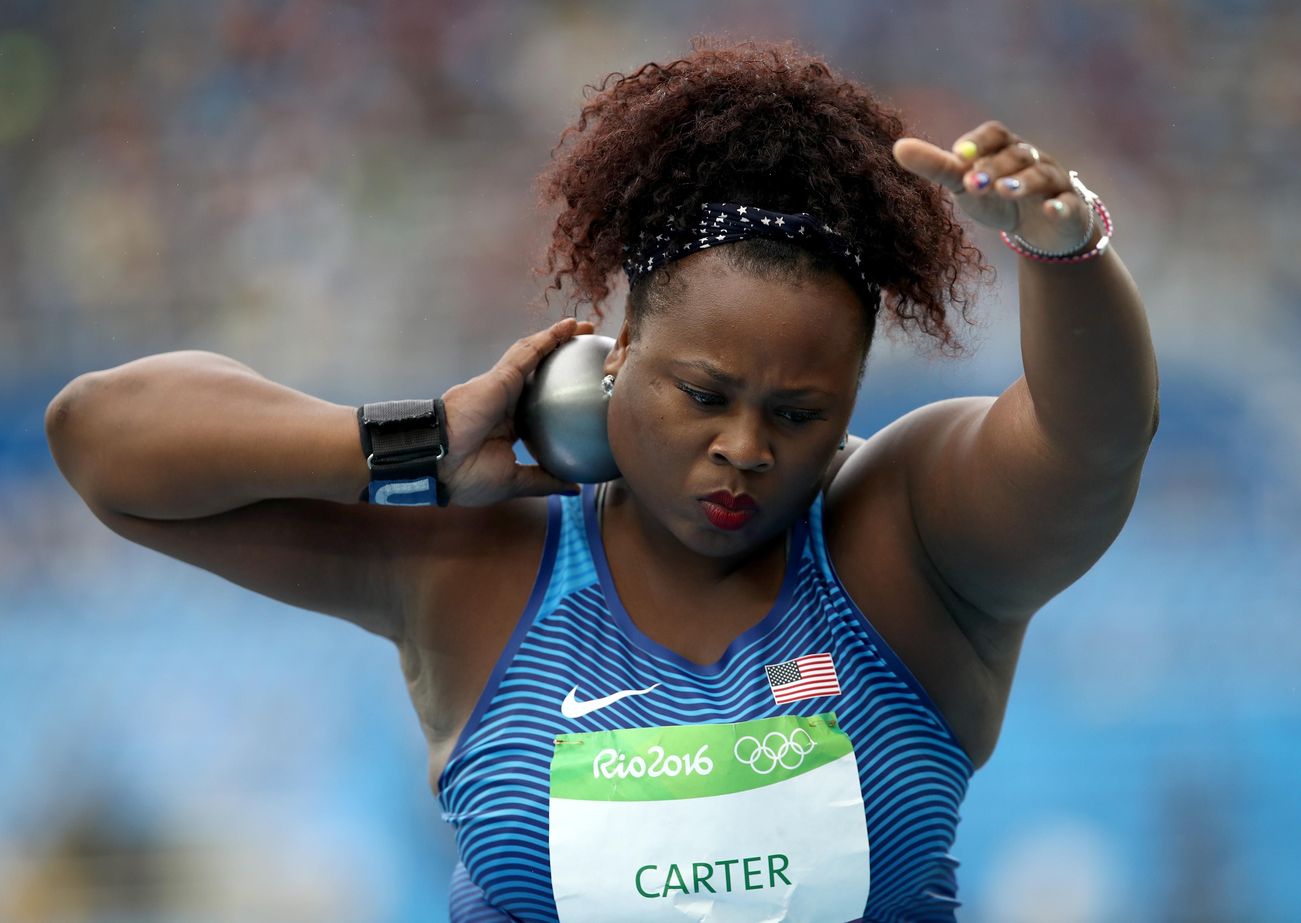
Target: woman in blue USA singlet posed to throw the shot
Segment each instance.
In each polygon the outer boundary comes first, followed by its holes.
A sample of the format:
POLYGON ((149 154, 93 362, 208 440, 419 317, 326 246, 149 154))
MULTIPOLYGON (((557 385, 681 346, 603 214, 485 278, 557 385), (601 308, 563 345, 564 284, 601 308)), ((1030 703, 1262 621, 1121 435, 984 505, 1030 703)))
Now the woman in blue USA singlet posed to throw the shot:
POLYGON ((575 319, 441 404, 200 353, 83 375, 61 470, 121 535, 398 646, 454 920, 952 920, 1026 622, 1115 539, 1157 427, 1106 210, 997 122, 905 138, 771 46, 613 76, 545 189, 552 280, 597 309, 631 281, 618 480, 511 452, 575 319), (982 263, 952 203, 1021 254, 1025 375, 846 440, 879 320, 954 344, 982 263))

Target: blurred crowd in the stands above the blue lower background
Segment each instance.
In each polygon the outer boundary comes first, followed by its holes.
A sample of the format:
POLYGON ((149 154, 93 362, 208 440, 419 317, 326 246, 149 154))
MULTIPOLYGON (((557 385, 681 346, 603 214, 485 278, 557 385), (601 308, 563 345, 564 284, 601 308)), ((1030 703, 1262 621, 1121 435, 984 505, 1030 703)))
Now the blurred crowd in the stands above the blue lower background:
POLYGON ((479 368, 536 323, 531 181, 582 87, 697 31, 804 42, 945 143, 1033 135, 1115 202, 1136 269, 1180 277, 1194 341, 1301 289, 1281 0, 7 0, 0 25, 10 379, 196 342, 314 383, 479 368))

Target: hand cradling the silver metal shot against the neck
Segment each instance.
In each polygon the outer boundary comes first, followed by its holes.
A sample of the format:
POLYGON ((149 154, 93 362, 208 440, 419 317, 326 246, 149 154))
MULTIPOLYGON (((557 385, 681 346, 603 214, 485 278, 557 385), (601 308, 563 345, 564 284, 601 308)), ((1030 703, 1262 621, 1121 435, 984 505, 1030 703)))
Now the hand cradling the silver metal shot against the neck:
POLYGON ((516 341, 487 372, 442 396, 449 444, 438 475, 451 504, 487 506, 511 497, 578 492, 578 484, 515 461, 514 418, 524 379, 537 363, 562 342, 593 329, 566 318, 516 341))

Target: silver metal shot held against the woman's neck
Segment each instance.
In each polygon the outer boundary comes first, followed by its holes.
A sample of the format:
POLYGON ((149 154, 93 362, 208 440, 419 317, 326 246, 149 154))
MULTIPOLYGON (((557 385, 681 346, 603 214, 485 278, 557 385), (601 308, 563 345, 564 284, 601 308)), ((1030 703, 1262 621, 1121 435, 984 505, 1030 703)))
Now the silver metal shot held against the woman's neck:
POLYGON ((608 336, 576 336, 543 359, 524 383, 516 431, 537 463, 557 478, 598 484, 619 476, 605 430, 610 398, 601 389, 613 348, 608 336))

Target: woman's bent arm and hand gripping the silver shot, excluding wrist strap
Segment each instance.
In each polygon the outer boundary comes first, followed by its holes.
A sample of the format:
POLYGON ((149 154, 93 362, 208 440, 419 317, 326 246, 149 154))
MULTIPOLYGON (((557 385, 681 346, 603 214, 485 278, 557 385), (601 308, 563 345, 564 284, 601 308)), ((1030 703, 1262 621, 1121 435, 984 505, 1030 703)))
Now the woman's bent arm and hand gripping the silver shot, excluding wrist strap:
POLYGON ((570 487, 514 463, 511 414, 524 376, 576 327, 520 340, 444 396, 445 480, 461 508, 358 504, 369 473, 355 409, 211 353, 82 375, 51 402, 46 430, 60 470, 116 532, 398 641, 441 557, 509 544, 536 518, 519 504, 464 506, 570 487))

